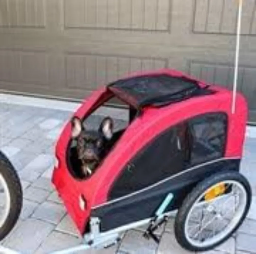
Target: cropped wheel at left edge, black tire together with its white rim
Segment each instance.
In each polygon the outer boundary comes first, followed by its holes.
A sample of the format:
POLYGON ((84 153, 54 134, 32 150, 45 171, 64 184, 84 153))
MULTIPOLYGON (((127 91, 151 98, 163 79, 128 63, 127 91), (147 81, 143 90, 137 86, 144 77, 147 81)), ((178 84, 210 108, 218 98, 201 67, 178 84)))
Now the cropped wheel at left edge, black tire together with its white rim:
POLYGON ((0 152, 0 240, 15 226, 22 209, 22 187, 19 177, 0 152))

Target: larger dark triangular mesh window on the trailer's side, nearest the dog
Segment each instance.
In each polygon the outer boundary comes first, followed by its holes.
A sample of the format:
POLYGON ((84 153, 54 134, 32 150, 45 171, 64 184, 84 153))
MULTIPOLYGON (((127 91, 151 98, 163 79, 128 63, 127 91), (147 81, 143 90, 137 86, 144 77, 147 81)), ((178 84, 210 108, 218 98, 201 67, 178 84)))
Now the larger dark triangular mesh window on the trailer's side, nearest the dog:
POLYGON ((184 125, 172 127, 154 138, 126 166, 115 181, 109 199, 141 190, 183 169, 184 125))

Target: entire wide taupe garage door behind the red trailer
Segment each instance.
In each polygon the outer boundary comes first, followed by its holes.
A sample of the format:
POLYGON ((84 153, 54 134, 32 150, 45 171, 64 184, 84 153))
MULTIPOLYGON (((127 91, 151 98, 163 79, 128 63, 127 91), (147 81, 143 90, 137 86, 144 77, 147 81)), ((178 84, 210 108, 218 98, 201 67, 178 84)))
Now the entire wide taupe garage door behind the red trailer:
MULTIPOLYGON (((0 0, 0 89, 81 99, 125 73, 177 68, 232 86, 237 0, 0 0)), ((256 121, 255 0, 239 90, 256 121)))

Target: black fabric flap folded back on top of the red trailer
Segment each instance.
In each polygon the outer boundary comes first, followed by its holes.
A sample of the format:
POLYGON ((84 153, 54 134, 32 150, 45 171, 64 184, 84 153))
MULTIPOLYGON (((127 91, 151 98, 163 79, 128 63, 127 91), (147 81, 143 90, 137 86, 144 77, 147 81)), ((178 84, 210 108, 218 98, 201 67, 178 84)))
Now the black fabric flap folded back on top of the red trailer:
POLYGON ((119 96, 122 95, 123 98, 131 100, 132 105, 136 104, 138 108, 146 105, 161 107, 191 96, 212 93, 206 88, 201 88, 196 80, 186 77, 173 77, 167 74, 142 75, 120 79, 111 83, 109 89, 113 93, 116 92, 119 96))

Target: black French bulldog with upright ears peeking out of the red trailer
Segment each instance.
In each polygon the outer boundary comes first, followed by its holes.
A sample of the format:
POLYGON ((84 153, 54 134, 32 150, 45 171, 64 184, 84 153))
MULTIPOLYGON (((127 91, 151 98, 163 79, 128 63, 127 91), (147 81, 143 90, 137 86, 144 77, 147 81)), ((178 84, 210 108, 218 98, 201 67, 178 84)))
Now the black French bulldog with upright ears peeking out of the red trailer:
POLYGON ((82 175, 91 175, 108 152, 108 143, 113 136, 113 120, 104 118, 98 131, 86 130, 78 117, 72 118, 71 124, 71 135, 77 140, 77 155, 82 163, 82 175))

